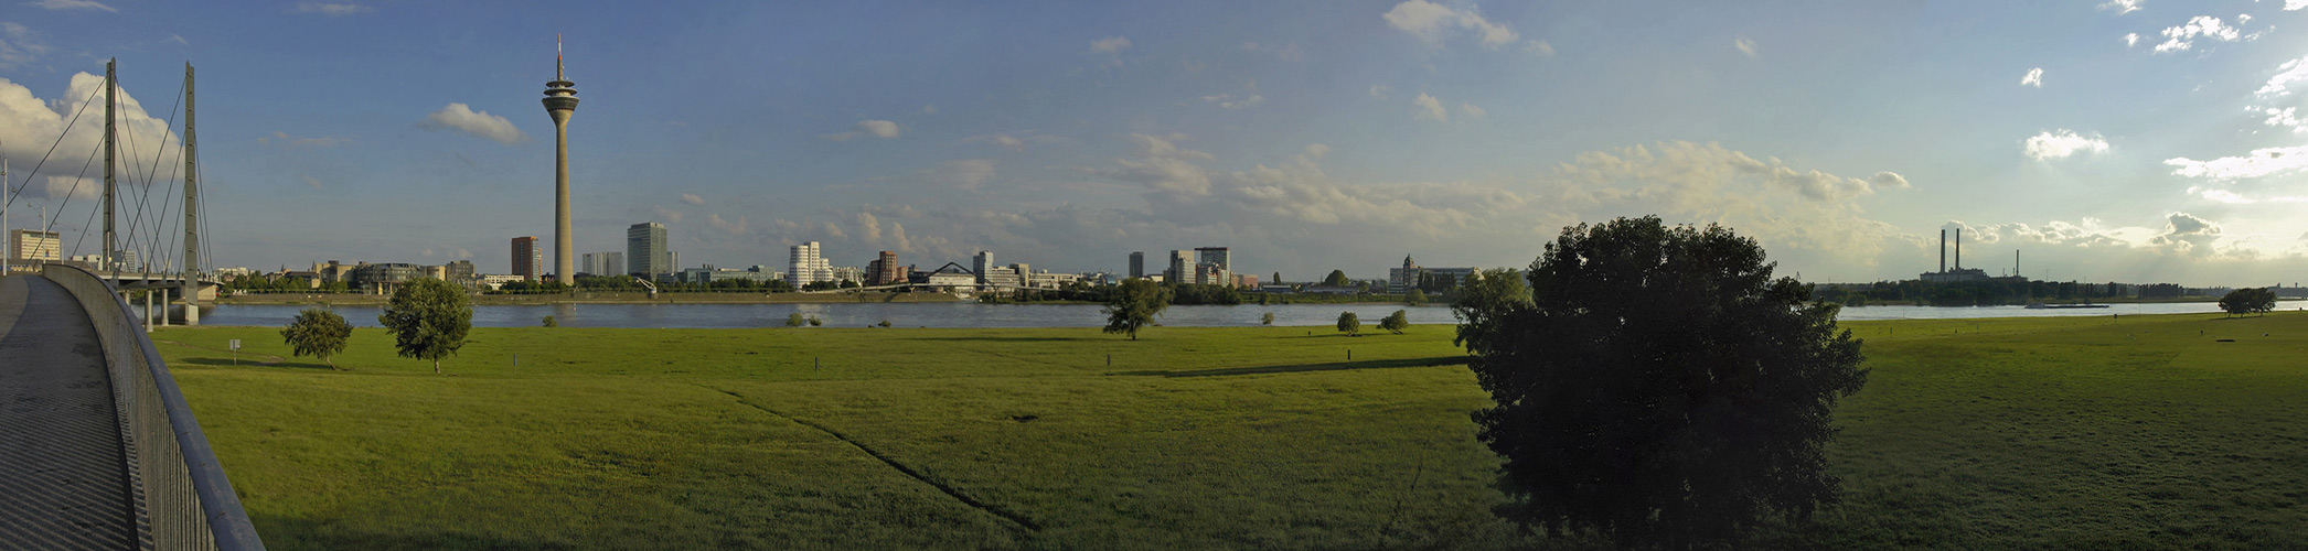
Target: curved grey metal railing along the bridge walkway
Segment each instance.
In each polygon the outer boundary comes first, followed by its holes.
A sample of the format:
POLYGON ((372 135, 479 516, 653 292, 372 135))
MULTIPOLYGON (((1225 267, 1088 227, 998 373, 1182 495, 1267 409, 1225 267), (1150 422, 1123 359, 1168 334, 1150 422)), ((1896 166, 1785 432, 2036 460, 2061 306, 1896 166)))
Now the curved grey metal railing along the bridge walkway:
POLYGON ((233 482, 224 480, 208 436, 192 420, 168 364, 152 348, 143 323, 102 277, 74 265, 44 265, 42 274, 81 302, 97 325, 122 450, 136 500, 136 533, 145 549, 261 551, 233 482))

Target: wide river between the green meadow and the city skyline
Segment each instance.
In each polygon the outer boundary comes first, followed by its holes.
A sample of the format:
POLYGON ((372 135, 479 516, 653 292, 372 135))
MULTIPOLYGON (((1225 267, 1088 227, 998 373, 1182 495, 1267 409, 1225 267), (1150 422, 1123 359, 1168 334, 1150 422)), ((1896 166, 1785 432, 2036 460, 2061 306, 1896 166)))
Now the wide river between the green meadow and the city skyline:
MULTIPOLYGON (((2308 300, 2278 302, 2278 309, 2303 309, 2308 300)), ((201 325, 288 325, 305 307, 286 304, 215 304, 201 311, 201 325)), ((1452 325, 1449 307, 1401 304, 1276 304, 1276 307, 1170 307, 1159 318, 1172 327, 1251 327, 1262 314, 1274 325, 1329 327, 1339 311, 1355 311, 1364 327, 1378 318, 1408 311, 1412 325, 1452 325)), ((379 327, 381 307, 335 307, 355 327, 379 327)), ((792 314, 817 316, 826 327, 865 327, 889 320, 896 327, 1103 327, 1099 304, 974 304, 974 302, 835 302, 835 304, 542 304, 542 307, 473 307, 475 327, 535 327, 554 316, 563 327, 782 327, 792 314)), ((1842 320, 1911 320, 1911 318, 2036 318, 2036 316, 2133 316, 2133 314, 2211 314, 2213 302, 2112 304, 2107 309, 2024 309, 2024 307, 1858 307, 1842 320)))

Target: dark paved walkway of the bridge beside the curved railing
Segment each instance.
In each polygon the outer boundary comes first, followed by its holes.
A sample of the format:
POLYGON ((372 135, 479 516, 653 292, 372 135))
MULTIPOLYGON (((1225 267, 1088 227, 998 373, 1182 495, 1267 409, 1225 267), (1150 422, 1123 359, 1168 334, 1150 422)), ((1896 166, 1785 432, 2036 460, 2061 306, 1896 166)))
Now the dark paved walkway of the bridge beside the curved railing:
POLYGON ((0 277, 0 546, 129 549, 132 507, 88 311, 46 277, 0 277))

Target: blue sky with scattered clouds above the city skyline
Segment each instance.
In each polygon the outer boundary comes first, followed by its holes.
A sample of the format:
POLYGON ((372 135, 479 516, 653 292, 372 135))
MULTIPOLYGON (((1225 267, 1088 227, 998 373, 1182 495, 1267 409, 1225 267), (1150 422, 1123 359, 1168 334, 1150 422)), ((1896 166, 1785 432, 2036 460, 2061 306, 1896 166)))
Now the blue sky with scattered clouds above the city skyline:
POLYGON ((579 254, 660 221, 690 267, 1378 279, 1657 214, 1807 281, 1913 279, 1955 228, 1989 274, 2308 279, 2308 0, 0 0, 9 224, 99 249, 106 58, 122 194, 168 196, 192 62, 212 265, 508 272, 552 240, 556 35, 579 254))

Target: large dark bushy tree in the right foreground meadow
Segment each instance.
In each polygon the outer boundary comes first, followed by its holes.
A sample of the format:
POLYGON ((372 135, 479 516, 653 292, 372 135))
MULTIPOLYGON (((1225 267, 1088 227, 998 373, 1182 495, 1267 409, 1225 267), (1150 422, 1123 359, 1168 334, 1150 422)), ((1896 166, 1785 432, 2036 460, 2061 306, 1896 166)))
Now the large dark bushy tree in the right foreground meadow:
POLYGON ((1722 226, 1613 219, 1546 244, 1530 302, 1489 277, 1463 293, 1505 512, 1553 535, 1710 546, 1835 503, 1821 450, 1835 401, 1867 383, 1860 341, 1773 267, 1722 226))

